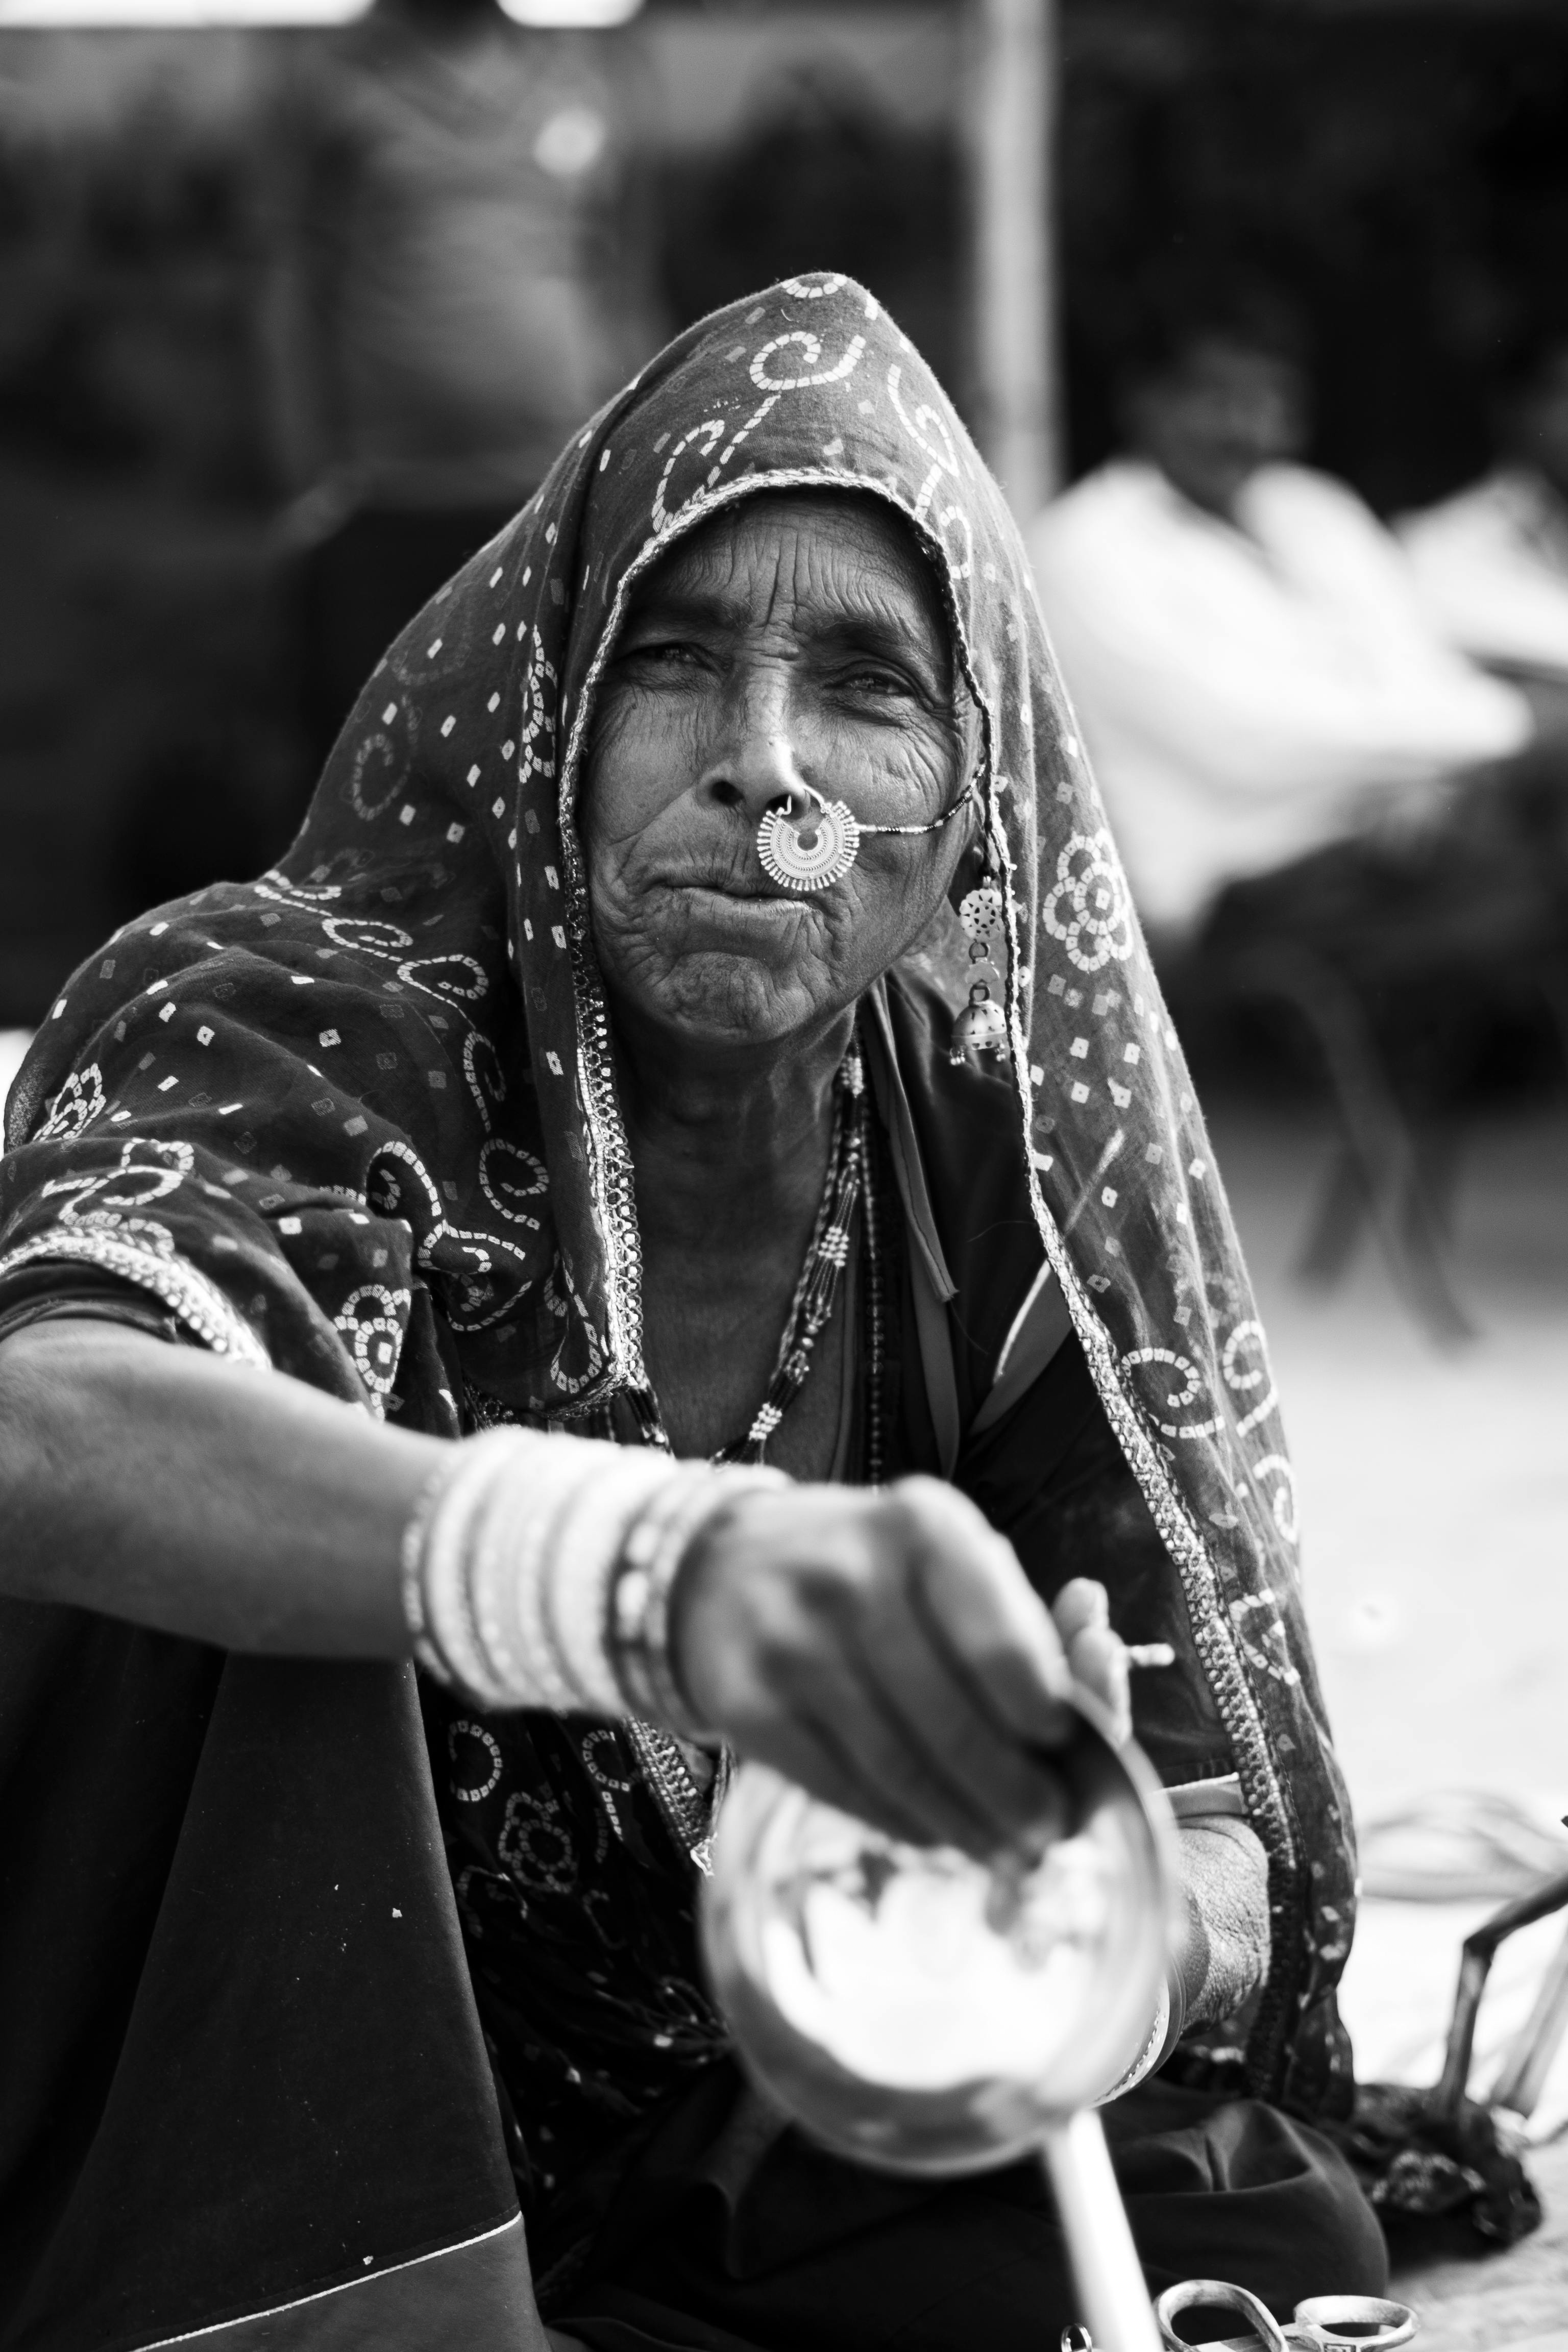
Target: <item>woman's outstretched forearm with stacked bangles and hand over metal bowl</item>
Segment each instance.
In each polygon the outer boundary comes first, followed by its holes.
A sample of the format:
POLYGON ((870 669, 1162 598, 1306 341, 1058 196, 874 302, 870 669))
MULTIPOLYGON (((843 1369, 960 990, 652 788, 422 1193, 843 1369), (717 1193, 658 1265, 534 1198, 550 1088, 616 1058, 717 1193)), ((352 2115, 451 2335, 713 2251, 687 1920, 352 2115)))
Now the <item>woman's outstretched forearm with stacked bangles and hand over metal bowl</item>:
POLYGON ((1065 1592, 1058 1632, 933 1479, 851 1496, 534 1430, 440 1444, 113 1322, 0 1341, 0 1524, 16 1599, 715 1733, 971 1853, 1065 1818, 1072 1675, 1126 1696, 1105 1597, 1065 1592))

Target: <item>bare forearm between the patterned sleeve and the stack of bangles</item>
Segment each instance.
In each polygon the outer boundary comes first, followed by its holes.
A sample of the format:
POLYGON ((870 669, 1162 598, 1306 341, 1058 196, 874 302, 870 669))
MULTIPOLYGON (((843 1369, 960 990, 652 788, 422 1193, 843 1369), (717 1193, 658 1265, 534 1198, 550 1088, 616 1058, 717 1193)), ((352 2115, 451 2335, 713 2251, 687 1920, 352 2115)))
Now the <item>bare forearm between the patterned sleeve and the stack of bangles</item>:
POLYGON ((0 1588, 240 1651, 407 1656, 400 1545, 447 1449, 113 1322, 0 1343, 0 1588))

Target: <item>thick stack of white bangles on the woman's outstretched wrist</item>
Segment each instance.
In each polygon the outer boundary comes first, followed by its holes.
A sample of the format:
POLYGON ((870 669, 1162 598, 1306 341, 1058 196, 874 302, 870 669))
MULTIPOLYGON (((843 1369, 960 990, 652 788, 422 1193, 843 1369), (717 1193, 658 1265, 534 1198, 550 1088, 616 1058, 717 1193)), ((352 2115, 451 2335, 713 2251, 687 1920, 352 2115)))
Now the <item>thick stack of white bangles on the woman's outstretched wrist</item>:
POLYGON ((477 1708, 635 1715, 710 1738, 670 1663, 675 1581, 741 1496, 788 1484, 597 1437, 468 1437, 402 1538, 414 1656, 477 1708))

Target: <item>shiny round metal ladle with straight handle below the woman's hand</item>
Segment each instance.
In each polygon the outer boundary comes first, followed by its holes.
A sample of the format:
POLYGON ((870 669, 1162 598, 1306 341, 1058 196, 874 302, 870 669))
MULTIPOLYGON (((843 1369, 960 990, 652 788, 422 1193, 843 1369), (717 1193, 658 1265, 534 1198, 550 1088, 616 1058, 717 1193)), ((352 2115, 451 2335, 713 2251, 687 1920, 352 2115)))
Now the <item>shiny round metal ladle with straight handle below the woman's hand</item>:
POLYGON ((835 2154, 978 2173, 1037 2150, 1098 2352, 1159 2352, 1093 2100, 1166 1969, 1175 1835, 1145 1757, 1079 1700, 1067 1835, 1034 1863, 905 1846, 743 1764, 703 1943, 743 2063, 835 2154))

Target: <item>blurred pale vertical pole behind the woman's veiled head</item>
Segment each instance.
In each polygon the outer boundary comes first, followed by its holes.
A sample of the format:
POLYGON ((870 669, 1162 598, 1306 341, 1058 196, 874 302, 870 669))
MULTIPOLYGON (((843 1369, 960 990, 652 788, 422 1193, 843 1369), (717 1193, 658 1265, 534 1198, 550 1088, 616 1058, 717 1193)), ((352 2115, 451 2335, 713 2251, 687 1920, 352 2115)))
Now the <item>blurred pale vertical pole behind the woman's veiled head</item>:
POLYGON ((1053 0, 973 0, 976 343, 980 447, 1020 522, 1058 482, 1053 0))

